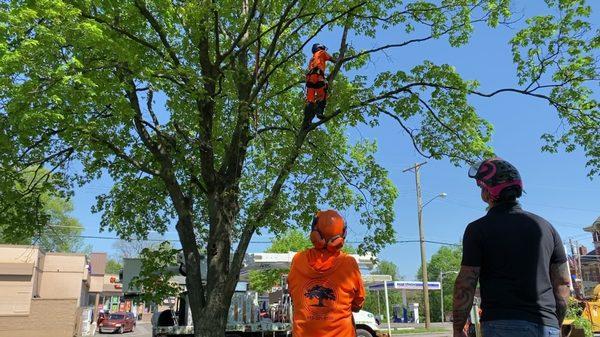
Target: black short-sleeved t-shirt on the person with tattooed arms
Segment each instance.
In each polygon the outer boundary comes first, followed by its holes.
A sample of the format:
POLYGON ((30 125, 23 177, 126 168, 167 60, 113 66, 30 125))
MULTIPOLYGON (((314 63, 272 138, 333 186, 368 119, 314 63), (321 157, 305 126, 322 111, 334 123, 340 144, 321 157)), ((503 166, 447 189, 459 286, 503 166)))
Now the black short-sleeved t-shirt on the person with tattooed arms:
POLYGON ((481 267, 482 321, 558 327, 550 264, 566 260, 552 225, 517 203, 493 207, 465 230, 462 265, 481 267))

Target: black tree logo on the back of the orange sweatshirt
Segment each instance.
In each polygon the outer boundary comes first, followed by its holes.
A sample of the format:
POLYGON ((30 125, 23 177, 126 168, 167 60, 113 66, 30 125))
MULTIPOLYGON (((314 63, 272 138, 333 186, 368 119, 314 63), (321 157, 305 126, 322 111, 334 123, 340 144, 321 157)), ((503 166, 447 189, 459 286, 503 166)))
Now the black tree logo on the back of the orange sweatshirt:
POLYGON ((335 288, 326 280, 311 280, 304 285, 304 308, 311 320, 329 320, 328 314, 338 299, 335 288))

